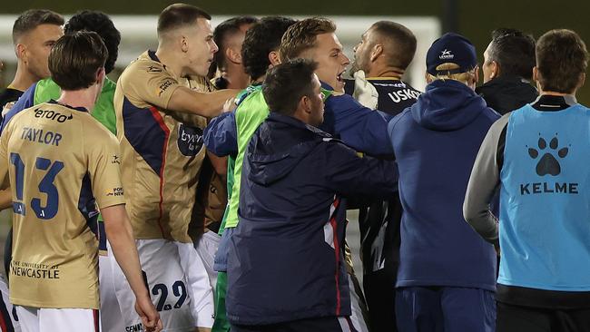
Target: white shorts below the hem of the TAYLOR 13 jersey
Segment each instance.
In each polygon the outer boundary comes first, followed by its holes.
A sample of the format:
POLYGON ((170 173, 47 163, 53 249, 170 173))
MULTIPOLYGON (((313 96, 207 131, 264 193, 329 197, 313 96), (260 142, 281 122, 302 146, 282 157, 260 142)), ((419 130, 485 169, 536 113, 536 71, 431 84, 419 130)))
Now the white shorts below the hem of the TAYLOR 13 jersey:
POLYGON ((98 310, 15 307, 23 332, 99 332, 98 310))

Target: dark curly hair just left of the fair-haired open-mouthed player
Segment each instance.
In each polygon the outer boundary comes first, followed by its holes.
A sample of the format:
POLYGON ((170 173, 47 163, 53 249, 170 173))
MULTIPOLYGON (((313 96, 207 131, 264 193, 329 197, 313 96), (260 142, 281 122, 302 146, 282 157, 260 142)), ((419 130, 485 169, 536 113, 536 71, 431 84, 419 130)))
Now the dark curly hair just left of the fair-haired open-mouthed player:
POLYGON ((279 50, 280 38, 296 22, 289 17, 263 17, 248 30, 241 45, 241 61, 253 81, 266 74, 270 52, 279 50))

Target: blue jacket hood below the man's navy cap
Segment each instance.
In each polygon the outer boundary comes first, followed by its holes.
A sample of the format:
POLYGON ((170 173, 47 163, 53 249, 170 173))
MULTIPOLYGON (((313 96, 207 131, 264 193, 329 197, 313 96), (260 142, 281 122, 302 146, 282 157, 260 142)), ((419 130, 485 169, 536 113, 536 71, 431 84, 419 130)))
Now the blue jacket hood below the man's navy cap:
POLYGON ((486 102, 466 84, 437 80, 427 85, 410 112, 420 126, 448 132, 467 126, 486 108, 486 102))

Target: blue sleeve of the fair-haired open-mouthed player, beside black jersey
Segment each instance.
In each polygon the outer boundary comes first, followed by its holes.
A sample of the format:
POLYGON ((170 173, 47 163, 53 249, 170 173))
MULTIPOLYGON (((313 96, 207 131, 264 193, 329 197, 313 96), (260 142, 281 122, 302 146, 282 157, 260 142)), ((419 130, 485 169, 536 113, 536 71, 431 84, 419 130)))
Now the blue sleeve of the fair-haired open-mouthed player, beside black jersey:
POLYGON ((364 107, 348 94, 330 96, 325 106, 321 130, 339 137, 357 151, 371 155, 393 153, 385 113, 364 107))

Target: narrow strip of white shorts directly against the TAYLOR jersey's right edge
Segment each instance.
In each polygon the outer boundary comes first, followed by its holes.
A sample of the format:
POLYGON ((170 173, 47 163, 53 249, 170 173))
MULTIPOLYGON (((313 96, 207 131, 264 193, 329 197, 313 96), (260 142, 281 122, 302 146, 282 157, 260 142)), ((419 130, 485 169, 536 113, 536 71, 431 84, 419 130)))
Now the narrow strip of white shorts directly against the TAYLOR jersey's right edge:
MULTIPOLYGON (((107 242, 109 253, 111 247, 107 242)), ((112 253, 111 253, 112 255, 112 253)), ((98 280, 101 296, 101 331, 102 332, 124 332, 123 315, 119 302, 114 292, 113 268, 111 259, 108 256, 98 256, 98 280)))

